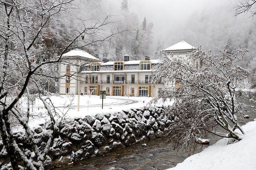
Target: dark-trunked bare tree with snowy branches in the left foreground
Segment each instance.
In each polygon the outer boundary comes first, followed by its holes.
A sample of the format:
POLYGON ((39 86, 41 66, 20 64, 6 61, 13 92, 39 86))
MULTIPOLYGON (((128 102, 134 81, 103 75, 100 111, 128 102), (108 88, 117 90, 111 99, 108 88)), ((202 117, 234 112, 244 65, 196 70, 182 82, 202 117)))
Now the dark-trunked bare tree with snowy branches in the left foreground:
MULTIPOLYGON (((95 42, 108 41, 122 31, 111 30, 106 33, 105 29, 116 21, 106 16, 102 22, 87 26, 86 21, 81 22, 81 28, 74 30, 76 37, 69 41, 68 45, 57 50, 59 56, 52 56, 45 61, 35 62, 36 55, 42 55, 45 50, 38 48, 37 42, 42 41, 43 31, 47 24, 51 24, 57 15, 67 13, 77 8, 74 0, 0 0, 0 137, 8 153, 13 169, 44 169, 44 160, 52 141, 58 133, 58 121, 54 119, 56 110, 50 96, 43 97, 40 87, 41 78, 59 78, 47 74, 44 68, 51 68, 54 64, 64 61, 62 54, 71 48, 74 43, 82 41, 80 47, 93 45, 95 42), (104 33, 105 32, 105 33, 104 33), (83 40, 79 37, 83 35, 83 40), (42 148, 36 144, 33 132, 28 125, 29 104, 26 111, 20 110, 18 102, 26 97, 29 100, 30 91, 37 89, 38 98, 43 102, 51 122, 52 133, 49 135, 47 144, 42 148), (36 160, 28 159, 20 149, 12 134, 10 116, 16 118, 20 126, 28 136, 36 160)), ((51 52, 56 49, 47 49, 51 52)), ((67 63, 68 61, 65 61, 67 63)), ((73 63, 71 63, 73 64, 73 63)))

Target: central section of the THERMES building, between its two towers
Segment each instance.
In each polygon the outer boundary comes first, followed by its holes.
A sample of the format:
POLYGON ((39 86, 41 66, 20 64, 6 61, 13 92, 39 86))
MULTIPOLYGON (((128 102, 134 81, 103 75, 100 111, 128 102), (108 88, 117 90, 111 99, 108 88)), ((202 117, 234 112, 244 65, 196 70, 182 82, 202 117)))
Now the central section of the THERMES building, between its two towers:
POLYGON ((93 62, 83 67, 80 74, 81 94, 99 95, 106 90, 110 96, 155 97, 164 88, 164 82, 150 84, 152 69, 159 60, 93 62))

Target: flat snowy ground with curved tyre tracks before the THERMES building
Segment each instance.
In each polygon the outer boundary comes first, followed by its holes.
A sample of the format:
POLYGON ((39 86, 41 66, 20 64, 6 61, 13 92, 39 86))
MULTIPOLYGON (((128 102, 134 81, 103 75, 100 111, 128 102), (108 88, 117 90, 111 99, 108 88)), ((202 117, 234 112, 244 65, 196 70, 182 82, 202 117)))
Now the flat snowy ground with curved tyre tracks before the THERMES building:
MULTIPOLYGON (((69 118, 82 118, 85 115, 95 115, 102 112, 118 112, 131 108, 140 108, 147 106, 148 102, 152 100, 152 97, 126 97, 126 96, 106 96, 103 99, 103 109, 102 109, 102 99, 100 96, 80 96, 80 109, 77 111, 77 95, 75 97, 67 97, 66 95, 61 96, 51 96, 52 103, 55 107, 58 115, 56 119, 69 118)), ((165 104, 172 104, 173 101, 165 102, 165 104)), ((163 104, 160 102, 159 104, 163 104)), ((27 107, 27 103, 23 102, 22 106, 24 109, 27 107)), ((30 126, 36 126, 37 124, 44 123, 48 121, 49 118, 46 116, 46 109, 43 108, 43 102, 40 99, 36 99, 35 105, 30 105, 30 115, 35 115, 33 118, 29 119, 30 126), (38 116, 39 115, 39 116, 38 116)))

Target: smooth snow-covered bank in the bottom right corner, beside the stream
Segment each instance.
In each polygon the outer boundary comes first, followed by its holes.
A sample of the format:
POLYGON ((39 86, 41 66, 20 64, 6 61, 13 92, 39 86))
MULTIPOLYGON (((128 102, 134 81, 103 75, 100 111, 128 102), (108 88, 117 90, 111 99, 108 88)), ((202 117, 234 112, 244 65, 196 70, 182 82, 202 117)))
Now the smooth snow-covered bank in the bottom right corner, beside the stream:
POLYGON ((168 170, 254 170, 256 169, 256 121, 243 126, 244 138, 234 144, 221 139, 168 170))

